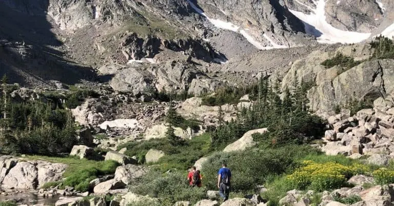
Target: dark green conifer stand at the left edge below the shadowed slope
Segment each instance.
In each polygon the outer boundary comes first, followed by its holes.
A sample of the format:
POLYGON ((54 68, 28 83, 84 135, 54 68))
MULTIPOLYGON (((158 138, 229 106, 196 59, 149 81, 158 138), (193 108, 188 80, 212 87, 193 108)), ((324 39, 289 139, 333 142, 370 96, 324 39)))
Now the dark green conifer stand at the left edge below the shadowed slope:
POLYGON ((0 153, 56 155, 77 143, 69 110, 41 100, 16 101, 3 76, 0 94, 0 153))

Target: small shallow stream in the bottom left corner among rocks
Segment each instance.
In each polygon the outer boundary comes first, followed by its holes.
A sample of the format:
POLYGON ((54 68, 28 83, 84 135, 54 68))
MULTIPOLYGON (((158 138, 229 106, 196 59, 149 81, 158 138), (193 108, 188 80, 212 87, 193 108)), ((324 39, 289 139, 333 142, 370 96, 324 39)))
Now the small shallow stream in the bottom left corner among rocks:
POLYGON ((17 204, 45 204, 45 205, 55 205, 55 202, 61 196, 53 196, 53 197, 38 197, 37 195, 26 192, 26 193, 17 193, 10 195, 0 195, 0 202, 6 200, 15 200, 17 204))

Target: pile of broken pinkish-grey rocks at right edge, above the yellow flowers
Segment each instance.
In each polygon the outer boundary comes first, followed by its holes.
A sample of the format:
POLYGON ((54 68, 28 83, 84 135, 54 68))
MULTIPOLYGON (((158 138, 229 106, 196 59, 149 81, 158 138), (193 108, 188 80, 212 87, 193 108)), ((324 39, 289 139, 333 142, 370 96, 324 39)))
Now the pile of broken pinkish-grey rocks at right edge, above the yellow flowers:
POLYGON ((326 154, 351 157, 369 155, 369 163, 387 165, 394 154, 394 119, 388 113, 392 106, 362 109, 356 115, 328 117, 332 130, 326 131, 326 154), (380 109, 379 109, 380 108, 380 109))

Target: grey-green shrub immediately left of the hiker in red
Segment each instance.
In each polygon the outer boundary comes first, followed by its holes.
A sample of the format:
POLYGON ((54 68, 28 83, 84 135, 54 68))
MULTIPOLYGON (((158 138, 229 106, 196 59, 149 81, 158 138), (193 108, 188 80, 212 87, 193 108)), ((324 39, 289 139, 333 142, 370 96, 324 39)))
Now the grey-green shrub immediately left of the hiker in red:
MULTIPOLYGON (((161 173, 151 171, 141 178, 131 191, 140 195, 160 198, 164 205, 176 201, 190 201, 195 203, 205 198, 204 188, 191 188, 187 182, 187 174, 181 172, 161 173)), ((204 178, 203 178, 204 184, 204 178)))

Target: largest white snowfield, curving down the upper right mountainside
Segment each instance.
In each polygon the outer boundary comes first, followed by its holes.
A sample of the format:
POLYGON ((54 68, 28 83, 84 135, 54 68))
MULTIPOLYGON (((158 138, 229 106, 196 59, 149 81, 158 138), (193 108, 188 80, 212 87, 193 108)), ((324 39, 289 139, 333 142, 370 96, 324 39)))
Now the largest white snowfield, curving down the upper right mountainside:
POLYGON ((311 11, 310 14, 305 14, 290 9, 289 11, 303 21, 305 25, 305 31, 308 34, 316 36, 319 43, 326 43, 326 44, 359 43, 367 39, 371 35, 370 33, 343 31, 334 28, 326 21, 325 0, 317 0, 317 1, 312 0, 312 2, 314 3, 314 5, 316 5, 316 9, 311 9, 310 7, 308 7, 311 11))

